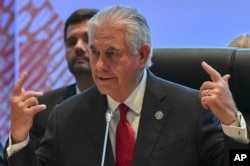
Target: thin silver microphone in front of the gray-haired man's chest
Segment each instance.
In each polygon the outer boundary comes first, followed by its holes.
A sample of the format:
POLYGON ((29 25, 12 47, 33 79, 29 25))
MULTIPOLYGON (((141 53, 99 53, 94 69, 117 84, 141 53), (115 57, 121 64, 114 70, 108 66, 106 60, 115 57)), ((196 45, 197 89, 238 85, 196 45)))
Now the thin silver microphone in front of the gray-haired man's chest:
POLYGON ((102 163, 101 166, 104 166, 104 160, 105 160, 105 154, 106 154, 106 146, 107 146, 107 139, 108 139, 108 132, 109 132, 109 124, 112 119, 113 112, 111 110, 108 110, 105 114, 106 118, 106 129, 105 129, 105 137, 104 137, 104 143, 103 143, 103 150, 102 150, 102 163))

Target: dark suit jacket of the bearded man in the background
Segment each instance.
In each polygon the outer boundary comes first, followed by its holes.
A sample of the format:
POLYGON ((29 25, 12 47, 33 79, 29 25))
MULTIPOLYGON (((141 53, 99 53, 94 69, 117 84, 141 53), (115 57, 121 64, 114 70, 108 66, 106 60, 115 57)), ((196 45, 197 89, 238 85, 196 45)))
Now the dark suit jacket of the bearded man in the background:
POLYGON ((30 138, 35 148, 38 147, 39 142, 44 136, 46 127, 48 125, 48 117, 56 104, 68 99, 76 94, 76 84, 61 87, 52 91, 48 91, 39 98, 40 104, 47 105, 46 110, 39 112, 33 119, 33 126, 30 131, 30 138))

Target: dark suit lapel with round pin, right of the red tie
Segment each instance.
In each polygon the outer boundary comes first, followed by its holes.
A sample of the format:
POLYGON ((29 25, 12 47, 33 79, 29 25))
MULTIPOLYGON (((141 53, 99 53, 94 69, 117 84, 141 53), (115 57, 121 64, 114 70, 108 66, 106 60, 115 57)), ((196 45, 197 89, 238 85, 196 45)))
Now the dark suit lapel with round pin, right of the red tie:
POLYGON ((149 72, 133 165, 147 165, 150 160, 154 145, 157 143, 167 118, 168 106, 163 104, 166 103, 163 102, 165 97, 158 81, 149 72))

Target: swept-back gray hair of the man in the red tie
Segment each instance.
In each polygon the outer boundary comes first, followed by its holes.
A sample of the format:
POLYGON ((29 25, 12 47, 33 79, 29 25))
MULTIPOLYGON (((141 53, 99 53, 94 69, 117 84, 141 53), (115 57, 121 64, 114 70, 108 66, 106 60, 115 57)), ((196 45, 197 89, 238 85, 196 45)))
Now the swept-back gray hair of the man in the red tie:
POLYGON ((142 44, 150 45, 150 55, 146 67, 152 65, 152 47, 151 47, 151 33, 145 17, 140 12, 127 6, 111 6, 100 10, 88 22, 88 33, 91 38, 95 28, 102 24, 109 23, 109 25, 125 25, 126 43, 133 53, 138 53, 142 44))

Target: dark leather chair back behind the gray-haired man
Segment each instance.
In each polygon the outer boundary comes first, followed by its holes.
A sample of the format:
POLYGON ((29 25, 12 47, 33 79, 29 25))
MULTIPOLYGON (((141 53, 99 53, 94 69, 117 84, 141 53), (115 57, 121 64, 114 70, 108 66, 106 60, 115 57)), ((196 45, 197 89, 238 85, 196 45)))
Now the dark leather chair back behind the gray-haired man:
POLYGON ((202 69, 205 61, 221 75, 230 74, 229 86, 238 109, 250 123, 250 49, 237 48, 158 48, 153 51, 157 76, 199 89, 210 80, 202 69))

